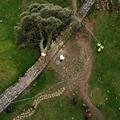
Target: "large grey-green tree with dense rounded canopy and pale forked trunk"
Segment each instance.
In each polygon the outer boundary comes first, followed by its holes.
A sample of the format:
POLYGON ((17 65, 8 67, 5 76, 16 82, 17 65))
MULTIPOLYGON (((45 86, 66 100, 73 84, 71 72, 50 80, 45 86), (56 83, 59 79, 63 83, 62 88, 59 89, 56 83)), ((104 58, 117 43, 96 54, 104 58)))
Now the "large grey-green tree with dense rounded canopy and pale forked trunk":
POLYGON ((37 45, 46 52, 51 43, 71 22, 71 10, 53 4, 34 3, 21 15, 16 27, 17 43, 37 45))

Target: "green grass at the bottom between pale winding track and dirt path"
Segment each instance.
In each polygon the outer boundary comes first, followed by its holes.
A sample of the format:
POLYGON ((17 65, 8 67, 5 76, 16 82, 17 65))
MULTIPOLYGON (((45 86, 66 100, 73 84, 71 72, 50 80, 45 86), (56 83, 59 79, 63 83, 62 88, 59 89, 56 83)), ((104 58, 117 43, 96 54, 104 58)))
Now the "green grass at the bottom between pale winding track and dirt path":
POLYGON ((81 101, 78 98, 76 106, 72 103, 72 97, 61 96, 43 102, 37 112, 28 120, 83 120, 81 101), (40 116, 38 118, 38 116, 40 116), (73 118, 73 119, 72 119, 73 118))

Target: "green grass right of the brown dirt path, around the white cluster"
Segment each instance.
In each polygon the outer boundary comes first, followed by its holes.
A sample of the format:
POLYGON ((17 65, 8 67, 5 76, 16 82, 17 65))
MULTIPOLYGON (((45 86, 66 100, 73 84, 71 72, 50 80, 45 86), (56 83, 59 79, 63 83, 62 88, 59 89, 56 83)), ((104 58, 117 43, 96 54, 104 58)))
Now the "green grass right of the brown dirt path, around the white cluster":
POLYGON ((120 12, 112 15, 96 14, 96 37, 105 46, 96 52, 93 40, 94 69, 90 83, 93 102, 103 111, 107 120, 120 119, 120 12), (108 100, 106 100, 108 99, 108 100))

